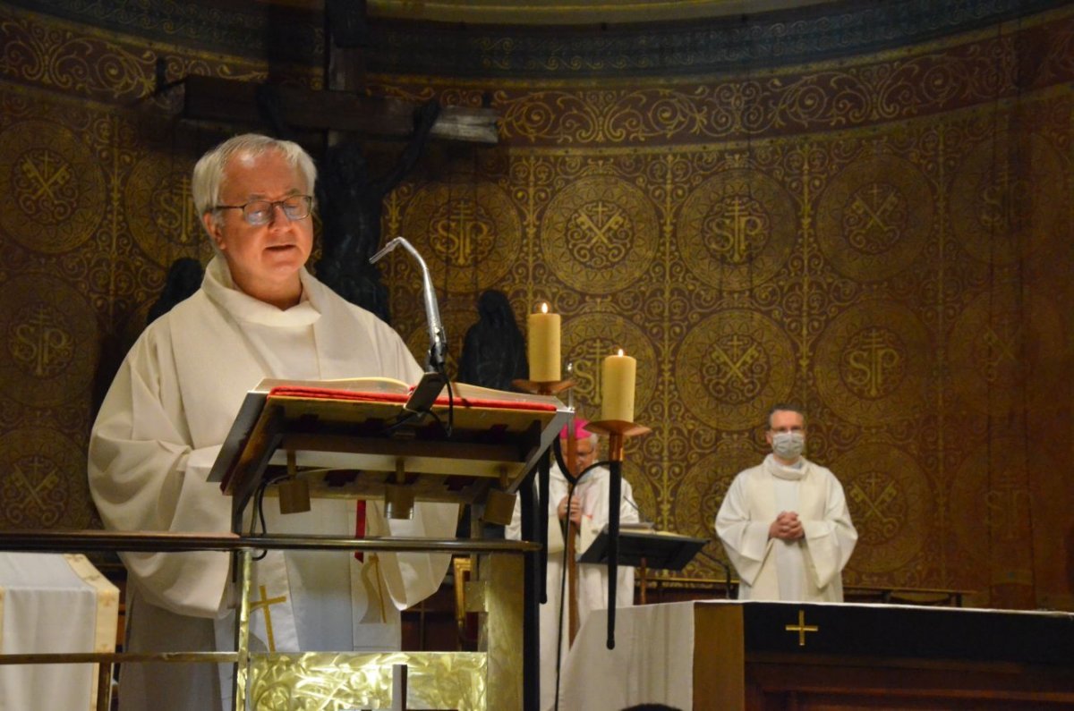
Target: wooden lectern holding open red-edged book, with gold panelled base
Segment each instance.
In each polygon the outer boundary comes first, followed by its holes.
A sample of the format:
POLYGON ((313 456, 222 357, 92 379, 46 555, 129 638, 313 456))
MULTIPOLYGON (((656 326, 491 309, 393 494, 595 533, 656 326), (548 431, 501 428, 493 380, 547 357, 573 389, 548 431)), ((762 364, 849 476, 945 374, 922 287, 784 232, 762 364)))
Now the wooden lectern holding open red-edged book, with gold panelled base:
MULTIPOLYGON (((294 496, 299 505, 303 491, 315 497, 383 498, 390 517, 406 518, 415 502, 453 502, 476 507, 474 522, 509 522, 516 491, 567 421, 569 410, 551 396, 465 384, 452 384, 452 390, 450 403, 441 394, 432 412, 422 417, 406 409, 409 393, 395 381, 262 382, 247 395, 209 475, 233 497, 234 532, 241 532, 255 492, 280 484, 300 491, 294 496), (445 427, 449 418, 450 437, 445 427)), ((479 524, 475 527, 480 529, 479 524)), ((466 540, 458 542, 459 552, 468 552, 466 540)), ((409 543, 411 550, 422 550, 420 540, 409 543)), ((360 541, 355 549, 361 549, 360 541)), ((339 708, 366 708, 374 697, 368 690, 354 688, 354 680, 383 687, 378 692, 384 693, 375 698, 390 700, 393 670, 404 659, 409 681, 403 686, 411 697, 417 683, 429 690, 423 698, 435 696, 437 703, 448 705, 442 708, 529 708, 531 703, 523 702, 519 649, 522 562, 518 555, 487 553, 474 563, 477 572, 467 591, 483 603, 487 612, 488 641, 482 652, 278 654, 244 649, 248 644, 247 554, 236 565, 243 571, 245 591, 236 633, 236 699, 244 698, 248 687, 251 705, 268 708, 258 690, 279 688, 293 679, 306 687, 315 684, 330 690, 319 694, 330 693, 334 701, 345 703, 339 708), (316 669, 313 677, 311 669, 316 669), (369 681, 374 679, 379 681, 369 681)), ((236 708, 241 708, 238 702, 236 708)))

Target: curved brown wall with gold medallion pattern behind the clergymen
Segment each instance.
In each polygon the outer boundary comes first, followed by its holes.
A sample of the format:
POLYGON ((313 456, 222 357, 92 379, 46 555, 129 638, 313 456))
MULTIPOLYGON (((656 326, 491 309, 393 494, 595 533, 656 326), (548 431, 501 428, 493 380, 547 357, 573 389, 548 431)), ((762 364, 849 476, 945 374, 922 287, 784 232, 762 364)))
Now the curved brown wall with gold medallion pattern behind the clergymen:
MULTIPOLYGON (((155 62, 266 68, 2 8, 0 42, 0 525, 83 527, 93 403, 166 265, 208 256, 187 175, 222 134, 175 118, 155 62)), ((638 358, 653 433, 626 474, 662 527, 711 536, 769 405, 792 400, 860 533, 848 584, 1074 609, 1072 42, 1058 11, 763 75, 379 74, 378 91, 488 96, 503 117, 497 147, 431 146, 384 234, 426 256, 454 357, 496 288, 520 320, 540 301, 563 315, 583 413, 598 359, 638 358)), ((384 269, 420 353, 418 275, 384 269)))

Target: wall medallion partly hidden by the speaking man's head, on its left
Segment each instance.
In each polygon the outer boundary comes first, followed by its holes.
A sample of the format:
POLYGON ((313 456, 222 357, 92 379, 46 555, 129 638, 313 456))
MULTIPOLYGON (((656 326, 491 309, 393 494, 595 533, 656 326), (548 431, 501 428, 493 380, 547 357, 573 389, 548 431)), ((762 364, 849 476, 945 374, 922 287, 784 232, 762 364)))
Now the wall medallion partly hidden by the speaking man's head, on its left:
POLYGON ((146 257, 171 266, 179 257, 203 264, 214 251, 190 194, 190 166, 148 156, 134 165, 124 195, 127 221, 146 257))

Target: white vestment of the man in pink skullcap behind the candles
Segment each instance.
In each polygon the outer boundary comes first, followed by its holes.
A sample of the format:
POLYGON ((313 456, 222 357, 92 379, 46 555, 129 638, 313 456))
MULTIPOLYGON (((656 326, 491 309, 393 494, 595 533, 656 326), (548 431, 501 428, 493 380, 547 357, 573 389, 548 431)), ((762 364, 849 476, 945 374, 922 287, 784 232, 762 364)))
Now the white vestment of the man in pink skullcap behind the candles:
MULTIPOLYGON (((578 482, 575 488, 575 498, 580 502, 582 510, 582 522, 578 531, 578 555, 585 552, 593 539, 608 524, 608 502, 610 497, 611 473, 600 466, 591 470, 578 482), (584 546, 584 548, 583 548, 584 546)), ((545 590, 548 594, 548 601, 540 606, 540 708, 547 711, 555 706, 555 671, 556 671, 556 642, 560 635, 556 633, 560 623, 560 589, 563 584, 564 576, 564 547, 563 528, 556 507, 564 496, 567 495, 567 480, 564 478, 560 467, 552 465, 549 476, 548 494, 551 505, 549 507, 548 529, 549 529, 549 554, 548 575, 545 580, 545 590)), ((634 500, 634 491, 630 482, 625 478, 622 480, 622 490, 619 502, 619 517, 621 523, 638 523, 638 511, 630 505, 634 500)), ((543 511, 543 504, 537 502, 538 508, 543 511)), ((516 502, 514 516, 511 524, 507 527, 507 537, 520 540, 522 538, 522 503, 516 502)), ((620 566, 615 582, 615 607, 628 607, 634 605, 634 568, 620 566)), ((581 627, 586 615, 595 610, 608 609, 608 567, 605 565, 578 565, 578 625, 581 627)), ((568 649, 568 611, 563 611, 563 637, 561 658, 566 658, 568 649)))

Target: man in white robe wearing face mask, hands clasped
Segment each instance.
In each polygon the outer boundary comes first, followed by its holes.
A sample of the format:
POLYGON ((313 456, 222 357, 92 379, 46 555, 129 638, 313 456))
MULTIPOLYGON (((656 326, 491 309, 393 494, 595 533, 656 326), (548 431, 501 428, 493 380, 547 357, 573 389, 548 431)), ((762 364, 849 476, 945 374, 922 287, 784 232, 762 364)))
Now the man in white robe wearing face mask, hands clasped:
POLYGON ((802 456, 798 407, 774 406, 765 439, 772 453, 735 477, 716 514, 739 599, 841 603, 843 567, 858 539, 843 488, 802 456))

